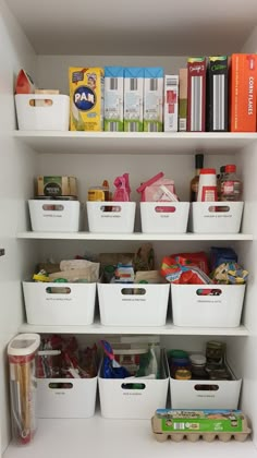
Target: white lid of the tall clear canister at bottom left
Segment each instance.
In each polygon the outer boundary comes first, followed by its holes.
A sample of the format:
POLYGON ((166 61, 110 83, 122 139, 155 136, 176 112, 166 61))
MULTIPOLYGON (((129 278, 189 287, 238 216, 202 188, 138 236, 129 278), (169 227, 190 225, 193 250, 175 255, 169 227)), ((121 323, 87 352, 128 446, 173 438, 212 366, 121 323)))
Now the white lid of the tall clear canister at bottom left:
POLYGON ((8 354, 12 357, 26 357, 34 353, 39 345, 39 334, 19 334, 9 342, 8 354))

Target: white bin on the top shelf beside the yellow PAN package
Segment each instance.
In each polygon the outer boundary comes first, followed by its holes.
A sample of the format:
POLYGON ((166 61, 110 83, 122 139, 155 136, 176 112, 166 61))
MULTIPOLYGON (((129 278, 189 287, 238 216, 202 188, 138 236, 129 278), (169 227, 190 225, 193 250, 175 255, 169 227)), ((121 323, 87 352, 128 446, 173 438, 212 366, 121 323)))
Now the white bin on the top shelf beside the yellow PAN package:
POLYGON ((16 94, 15 104, 21 131, 69 131, 68 95, 16 94))

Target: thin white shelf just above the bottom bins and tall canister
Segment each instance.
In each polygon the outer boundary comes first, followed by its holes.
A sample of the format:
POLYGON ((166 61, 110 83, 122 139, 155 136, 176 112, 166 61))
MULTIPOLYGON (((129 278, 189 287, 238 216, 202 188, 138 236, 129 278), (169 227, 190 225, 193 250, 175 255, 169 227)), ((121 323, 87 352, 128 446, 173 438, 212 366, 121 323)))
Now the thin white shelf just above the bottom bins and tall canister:
POLYGON ((102 326, 99 321, 89 326, 42 326, 24 323, 19 328, 20 333, 39 334, 155 334, 160 336, 248 336, 248 329, 238 327, 180 327, 169 323, 166 326, 102 326))

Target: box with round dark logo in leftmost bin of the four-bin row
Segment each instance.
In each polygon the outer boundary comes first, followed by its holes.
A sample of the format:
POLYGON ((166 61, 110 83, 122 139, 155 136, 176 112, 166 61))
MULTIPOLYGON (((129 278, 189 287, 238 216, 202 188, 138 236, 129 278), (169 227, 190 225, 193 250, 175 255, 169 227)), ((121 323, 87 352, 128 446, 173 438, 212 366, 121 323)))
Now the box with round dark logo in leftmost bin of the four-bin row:
POLYGON ((77 182, 75 177, 37 177, 36 192, 37 196, 77 197, 77 182))

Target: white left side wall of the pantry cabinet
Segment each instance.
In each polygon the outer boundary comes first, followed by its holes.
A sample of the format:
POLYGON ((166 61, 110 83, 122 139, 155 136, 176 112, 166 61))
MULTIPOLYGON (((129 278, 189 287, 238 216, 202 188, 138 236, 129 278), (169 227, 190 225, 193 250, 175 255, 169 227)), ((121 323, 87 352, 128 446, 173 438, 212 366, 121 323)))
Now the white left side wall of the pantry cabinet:
POLYGON ((35 71, 34 51, 0 0, 0 409, 3 450, 10 439, 9 386, 5 347, 23 321, 21 278, 29 264, 26 244, 15 240, 16 228, 24 226, 25 198, 32 192, 34 156, 12 138, 15 128, 13 87, 21 68, 35 71), (26 261, 24 263, 24 260, 26 261))

